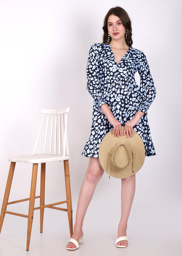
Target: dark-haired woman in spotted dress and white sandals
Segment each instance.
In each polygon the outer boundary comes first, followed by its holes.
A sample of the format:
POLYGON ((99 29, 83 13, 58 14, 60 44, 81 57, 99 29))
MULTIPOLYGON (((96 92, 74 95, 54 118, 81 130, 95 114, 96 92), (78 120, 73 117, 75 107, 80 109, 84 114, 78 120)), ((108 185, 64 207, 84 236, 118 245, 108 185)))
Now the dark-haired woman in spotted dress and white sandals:
MULTIPOLYGON (((87 90, 94 98, 91 135, 82 152, 89 164, 80 190, 76 221, 67 249, 82 243, 82 225, 102 169, 98 150, 103 137, 113 128, 114 136, 132 137, 137 131, 145 146, 145 155, 155 155, 147 110, 155 98, 155 87, 145 55, 132 48, 131 22, 126 11, 111 8, 104 19, 103 43, 94 44, 87 63, 87 90), (140 74, 140 87, 134 74, 140 74)), ((121 220, 118 224, 117 247, 128 245, 127 221, 135 194, 135 175, 121 179, 121 220)))

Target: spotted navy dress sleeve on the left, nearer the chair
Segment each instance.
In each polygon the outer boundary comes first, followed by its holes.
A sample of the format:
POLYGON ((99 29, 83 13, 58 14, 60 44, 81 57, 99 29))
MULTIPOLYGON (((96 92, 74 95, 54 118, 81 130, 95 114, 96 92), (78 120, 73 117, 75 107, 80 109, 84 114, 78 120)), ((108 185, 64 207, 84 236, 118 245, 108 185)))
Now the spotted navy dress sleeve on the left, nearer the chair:
POLYGON ((87 62, 87 91, 100 107, 102 104, 107 103, 107 101, 104 99, 99 81, 99 46, 100 44, 94 44, 89 51, 87 62))

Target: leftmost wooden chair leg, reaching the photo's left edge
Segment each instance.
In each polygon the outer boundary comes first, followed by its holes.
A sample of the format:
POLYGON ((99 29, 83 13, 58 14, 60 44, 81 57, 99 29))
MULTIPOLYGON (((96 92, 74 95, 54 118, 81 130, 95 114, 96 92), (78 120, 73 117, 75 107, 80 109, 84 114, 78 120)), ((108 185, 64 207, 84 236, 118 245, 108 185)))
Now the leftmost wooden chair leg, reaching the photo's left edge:
POLYGON ((6 208, 7 208, 7 205, 8 205, 8 199, 9 199, 9 196, 10 196, 10 189, 11 189, 13 174, 14 174, 14 170, 15 170, 15 164, 16 164, 16 162, 11 162, 11 164, 10 164, 10 170, 9 170, 9 174, 8 174, 8 179, 7 179, 7 183, 6 183, 4 199, 3 199, 3 203, 2 203, 2 209, 1 209, 0 233, 1 233, 2 224, 3 224, 3 221, 4 221, 4 216, 5 216, 4 211, 6 211, 6 208))

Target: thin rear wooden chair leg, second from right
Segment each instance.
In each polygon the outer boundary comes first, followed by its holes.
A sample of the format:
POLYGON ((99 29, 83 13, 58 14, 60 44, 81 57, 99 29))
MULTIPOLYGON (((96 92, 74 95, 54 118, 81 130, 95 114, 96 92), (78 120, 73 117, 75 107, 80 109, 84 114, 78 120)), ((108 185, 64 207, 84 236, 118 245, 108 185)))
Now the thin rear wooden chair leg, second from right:
MULTIPOLYGON (((41 163, 41 175, 40 175, 40 206, 45 203, 45 163, 41 163)), ((43 230, 43 218, 44 208, 40 209, 40 233, 43 230)))

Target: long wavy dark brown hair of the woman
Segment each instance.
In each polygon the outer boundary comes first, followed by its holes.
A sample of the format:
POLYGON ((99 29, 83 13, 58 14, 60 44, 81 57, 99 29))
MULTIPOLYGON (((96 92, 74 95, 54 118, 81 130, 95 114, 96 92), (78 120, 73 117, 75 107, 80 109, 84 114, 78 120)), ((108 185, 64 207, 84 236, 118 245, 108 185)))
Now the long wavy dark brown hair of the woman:
MULTIPOLYGON (((105 16, 105 19, 104 19, 104 24, 103 24, 103 44, 104 43, 107 43, 108 42, 108 19, 109 19, 109 16, 114 14, 115 16, 119 17, 123 26, 125 27, 126 29, 126 32, 127 32, 127 38, 125 39, 126 40, 126 44, 128 46, 131 46, 133 41, 132 41, 132 29, 131 29, 131 21, 130 21, 130 18, 128 16, 128 13, 121 7, 113 7, 111 8, 108 13, 106 14, 105 16)), ((111 37, 109 39, 109 42, 111 42, 111 37)))

